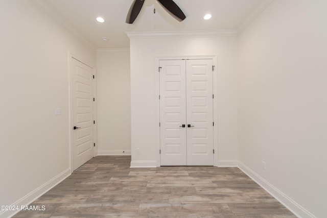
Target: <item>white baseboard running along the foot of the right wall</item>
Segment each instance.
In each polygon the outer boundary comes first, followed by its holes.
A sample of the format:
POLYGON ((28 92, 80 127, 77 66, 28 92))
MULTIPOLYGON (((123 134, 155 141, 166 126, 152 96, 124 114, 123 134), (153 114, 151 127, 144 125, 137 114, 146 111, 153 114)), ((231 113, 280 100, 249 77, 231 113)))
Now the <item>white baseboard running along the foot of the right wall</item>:
POLYGON ((316 218, 316 216, 307 211, 305 208, 301 207, 299 204, 297 204, 295 201, 285 195, 285 193, 274 187, 272 184, 270 184, 264 178, 256 174, 254 171, 252 171, 249 167, 247 167, 240 161, 239 168, 296 216, 300 218, 316 218))

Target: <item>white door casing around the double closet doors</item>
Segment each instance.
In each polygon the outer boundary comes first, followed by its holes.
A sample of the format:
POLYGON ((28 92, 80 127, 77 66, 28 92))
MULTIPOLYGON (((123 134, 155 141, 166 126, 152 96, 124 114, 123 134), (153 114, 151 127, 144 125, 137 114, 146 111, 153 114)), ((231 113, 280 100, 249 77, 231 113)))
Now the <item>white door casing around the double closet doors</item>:
MULTIPOLYGON (((214 116, 214 166, 218 166, 218 64, 217 64, 217 55, 200 55, 200 56, 190 56, 190 55, 185 55, 185 56, 156 56, 155 58, 155 88, 156 88, 156 95, 159 96, 160 94, 160 77, 159 77, 159 61, 160 60, 181 60, 181 59, 213 59, 213 64, 214 64, 214 71, 213 71, 213 91, 214 91, 214 101, 213 101, 213 116, 214 116)), ((157 98, 157 104, 156 104, 156 119, 157 124, 155 125, 157 127, 156 129, 156 150, 157 156, 156 156, 156 162, 157 162, 157 167, 160 167, 160 101, 159 98, 157 98)))

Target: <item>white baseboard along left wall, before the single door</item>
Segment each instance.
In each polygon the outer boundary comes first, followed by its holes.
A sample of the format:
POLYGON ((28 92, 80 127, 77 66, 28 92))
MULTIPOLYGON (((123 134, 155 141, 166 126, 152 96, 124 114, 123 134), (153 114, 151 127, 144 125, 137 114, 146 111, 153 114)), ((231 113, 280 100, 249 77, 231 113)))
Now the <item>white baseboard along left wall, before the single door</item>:
POLYGON ((51 188, 55 187, 59 184, 62 180, 66 179, 68 176, 71 175, 71 168, 66 169, 64 172, 59 174, 58 176, 54 177, 53 179, 49 180, 48 182, 44 183, 40 187, 36 188, 35 190, 28 193, 26 196, 22 197, 15 203, 11 204, 12 206, 18 206, 19 210, 10 211, 5 210, 0 212, 0 218, 7 218, 11 217, 14 214, 20 211, 21 206, 27 206, 31 204, 33 201, 38 199, 40 196, 44 195, 45 192, 49 191, 51 188))

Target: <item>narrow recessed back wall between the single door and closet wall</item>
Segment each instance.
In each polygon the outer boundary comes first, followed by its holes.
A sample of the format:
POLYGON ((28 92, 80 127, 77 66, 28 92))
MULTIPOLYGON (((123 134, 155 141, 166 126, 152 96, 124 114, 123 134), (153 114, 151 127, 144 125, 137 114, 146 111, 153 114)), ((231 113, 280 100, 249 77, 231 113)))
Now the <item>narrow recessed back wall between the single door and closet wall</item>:
POLYGON ((97 92, 98 155, 130 155, 129 50, 98 50, 97 92))

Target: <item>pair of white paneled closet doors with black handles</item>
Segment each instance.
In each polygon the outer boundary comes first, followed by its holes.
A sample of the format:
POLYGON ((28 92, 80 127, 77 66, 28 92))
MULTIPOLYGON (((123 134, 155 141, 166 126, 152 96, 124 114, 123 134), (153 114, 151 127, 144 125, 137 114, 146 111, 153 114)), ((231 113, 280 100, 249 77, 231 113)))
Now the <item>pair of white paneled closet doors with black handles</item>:
POLYGON ((160 60, 160 165, 213 165, 213 60, 160 60))

